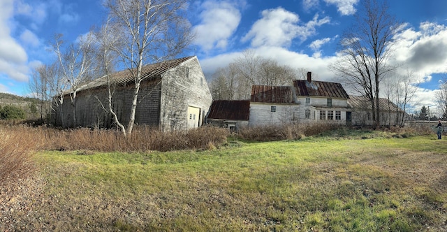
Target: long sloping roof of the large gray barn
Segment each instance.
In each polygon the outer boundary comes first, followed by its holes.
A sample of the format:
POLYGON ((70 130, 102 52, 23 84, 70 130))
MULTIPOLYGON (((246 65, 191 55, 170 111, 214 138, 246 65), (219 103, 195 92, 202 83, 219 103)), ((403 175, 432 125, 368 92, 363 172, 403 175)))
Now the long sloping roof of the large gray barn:
MULTIPOLYGON (((191 59, 194 56, 191 57, 183 57, 179 59, 171 59, 168 61, 161 61, 159 63, 155 64, 147 64, 145 66, 142 66, 141 71, 141 77, 142 80, 149 80, 152 78, 161 77, 166 71, 168 71, 170 68, 174 68, 175 66, 179 66, 179 64, 182 64, 184 61, 187 61, 188 59, 191 59)), ((116 73, 112 73, 109 76, 109 80, 112 84, 121 84, 125 85, 127 83, 132 82, 133 83, 133 74, 136 75, 136 69, 124 69, 122 71, 118 71, 116 73)), ((93 89, 96 87, 102 87, 107 85, 107 76, 103 76, 101 78, 97 78, 95 80, 92 80, 91 82, 87 82, 85 85, 81 85, 78 87, 78 91, 84 90, 84 89, 93 89)))

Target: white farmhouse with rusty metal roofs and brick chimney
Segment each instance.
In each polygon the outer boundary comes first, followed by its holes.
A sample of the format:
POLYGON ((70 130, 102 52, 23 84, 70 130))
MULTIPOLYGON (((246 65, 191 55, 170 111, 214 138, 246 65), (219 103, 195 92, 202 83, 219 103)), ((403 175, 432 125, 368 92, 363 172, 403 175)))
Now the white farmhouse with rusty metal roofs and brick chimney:
POLYGON ((349 96, 340 83, 294 80, 293 86, 254 85, 249 126, 295 122, 351 121, 349 96))

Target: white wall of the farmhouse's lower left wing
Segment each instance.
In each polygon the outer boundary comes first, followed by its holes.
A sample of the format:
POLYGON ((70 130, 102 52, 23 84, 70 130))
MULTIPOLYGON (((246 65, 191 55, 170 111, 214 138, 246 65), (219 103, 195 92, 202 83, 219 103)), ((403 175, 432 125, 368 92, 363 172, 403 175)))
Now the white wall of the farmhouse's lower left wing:
POLYGON ((249 126, 296 122, 299 119, 298 115, 298 105, 251 102, 249 126), (276 112, 272 112, 272 106, 276 107, 276 112))

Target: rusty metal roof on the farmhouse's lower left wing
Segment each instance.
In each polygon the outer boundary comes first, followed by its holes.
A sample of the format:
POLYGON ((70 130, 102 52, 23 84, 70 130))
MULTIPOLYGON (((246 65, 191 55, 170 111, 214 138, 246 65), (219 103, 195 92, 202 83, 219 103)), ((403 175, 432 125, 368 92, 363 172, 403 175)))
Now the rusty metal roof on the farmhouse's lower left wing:
POLYGON ((253 85, 251 102, 261 103, 296 103, 291 86, 253 85))

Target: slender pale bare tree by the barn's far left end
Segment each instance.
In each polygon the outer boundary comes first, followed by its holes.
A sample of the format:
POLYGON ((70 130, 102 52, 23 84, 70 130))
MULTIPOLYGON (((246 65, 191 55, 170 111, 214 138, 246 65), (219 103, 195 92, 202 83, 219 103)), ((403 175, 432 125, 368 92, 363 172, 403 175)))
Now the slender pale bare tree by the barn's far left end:
POLYGON ((72 126, 77 126, 78 124, 76 119, 76 94, 78 93, 79 87, 93 78, 93 43, 94 36, 89 33, 81 36, 78 42, 71 43, 66 48, 62 48, 64 41, 62 40, 62 35, 59 34, 55 36, 55 41, 52 45, 59 62, 60 79, 58 82, 61 85, 59 103, 62 107, 63 98, 66 94, 65 91, 68 90, 73 110, 72 126))

